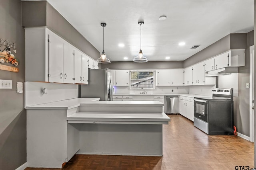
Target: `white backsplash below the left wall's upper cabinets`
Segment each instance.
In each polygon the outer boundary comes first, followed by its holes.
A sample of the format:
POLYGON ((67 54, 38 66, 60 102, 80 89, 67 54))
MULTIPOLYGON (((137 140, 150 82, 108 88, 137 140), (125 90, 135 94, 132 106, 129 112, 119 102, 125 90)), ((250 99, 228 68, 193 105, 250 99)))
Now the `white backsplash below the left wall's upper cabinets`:
POLYGON ((25 82, 24 91, 24 107, 78 98, 76 84, 25 82), (41 95, 43 88, 47 88, 48 92, 41 95))

